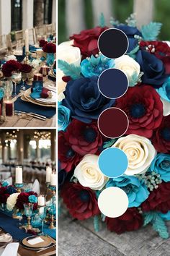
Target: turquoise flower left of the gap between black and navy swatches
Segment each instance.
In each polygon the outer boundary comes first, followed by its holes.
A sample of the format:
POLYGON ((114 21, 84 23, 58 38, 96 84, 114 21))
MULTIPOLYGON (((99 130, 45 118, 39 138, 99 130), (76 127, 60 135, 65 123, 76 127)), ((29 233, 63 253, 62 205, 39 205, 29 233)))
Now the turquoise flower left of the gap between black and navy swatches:
POLYGON ((81 62, 81 73, 84 77, 99 77, 104 70, 110 69, 114 66, 115 62, 113 59, 108 59, 102 54, 99 54, 97 57, 91 55, 90 58, 84 59, 81 62))

